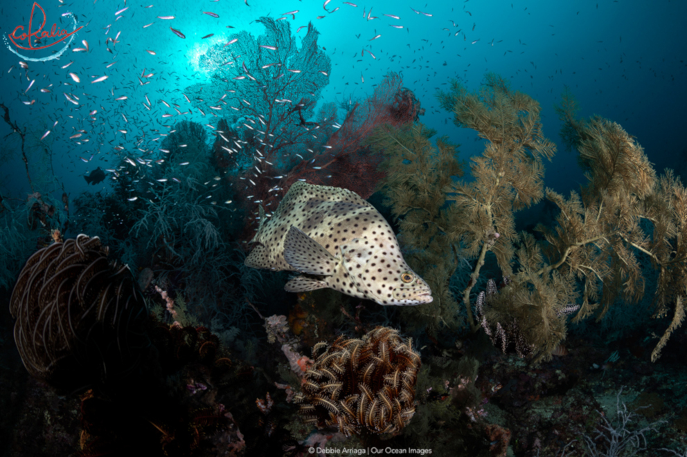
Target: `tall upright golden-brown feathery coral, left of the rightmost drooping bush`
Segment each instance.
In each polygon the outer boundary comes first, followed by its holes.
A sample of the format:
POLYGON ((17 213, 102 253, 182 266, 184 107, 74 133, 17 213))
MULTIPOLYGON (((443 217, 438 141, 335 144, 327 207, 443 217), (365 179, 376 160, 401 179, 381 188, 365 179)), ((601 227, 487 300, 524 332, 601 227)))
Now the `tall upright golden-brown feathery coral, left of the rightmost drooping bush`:
POLYGON ((542 134, 539 104, 528 95, 510 90, 497 75, 488 74, 479 93, 468 93, 452 82, 450 93, 439 93, 454 122, 474 129, 488 140, 482 156, 472 158, 474 181, 453 183, 448 192, 455 203, 449 214, 449 239, 461 243, 467 257, 477 259, 471 283, 463 291, 468 319, 474 328, 470 291, 487 252, 496 255, 503 274, 511 275, 515 252, 513 212, 544 196, 543 158, 551 159, 555 144, 542 134), (498 233, 498 239, 494 234, 498 233))

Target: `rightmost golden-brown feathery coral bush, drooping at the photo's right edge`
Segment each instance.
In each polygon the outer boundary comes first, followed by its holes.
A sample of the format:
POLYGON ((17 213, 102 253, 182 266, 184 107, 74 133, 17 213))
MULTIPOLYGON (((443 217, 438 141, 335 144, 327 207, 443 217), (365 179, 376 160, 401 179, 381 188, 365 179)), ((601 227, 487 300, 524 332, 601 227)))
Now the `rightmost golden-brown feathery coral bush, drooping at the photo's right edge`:
POLYGON ((675 308, 672 322, 652 352, 659 358, 684 319, 687 297, 687 189, 672 170, 657 177, 644 150, 616 122, 593 116, 576 120, 570 95, 559 114, 580 153, 589 180, 580 196, 569 199, 548 190, 561 212, 553 230, 539 227, 546 257, 562 274, 582 279, 582 308, 576 319, 604 317, 619 299, 639 300, 645 292, 640 257, 659 270, 654 317, 675 308), (645 223, 645 225, 643 225, 645 223), (598 309, 600 308, 600 310, 598 309))

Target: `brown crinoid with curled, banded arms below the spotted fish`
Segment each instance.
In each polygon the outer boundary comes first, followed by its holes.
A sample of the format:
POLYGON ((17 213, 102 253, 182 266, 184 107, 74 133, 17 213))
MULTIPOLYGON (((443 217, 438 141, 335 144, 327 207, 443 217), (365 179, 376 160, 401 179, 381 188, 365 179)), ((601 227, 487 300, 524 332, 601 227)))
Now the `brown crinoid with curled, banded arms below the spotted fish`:
POLYGON ((340 336, 312 348, 315 363, 296 395, 305 422, 338 426, 346 436, 400 431, 415 413, 420 355, 398 330, 377 327, 363 339, 340 336))

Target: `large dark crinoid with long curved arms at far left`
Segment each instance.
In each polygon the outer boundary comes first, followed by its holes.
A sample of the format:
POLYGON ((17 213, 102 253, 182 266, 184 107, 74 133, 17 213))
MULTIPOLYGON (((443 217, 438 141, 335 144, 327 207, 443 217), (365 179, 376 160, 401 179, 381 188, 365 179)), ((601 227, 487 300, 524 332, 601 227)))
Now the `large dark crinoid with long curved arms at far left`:
POLYGON ((53 243, 28 259, 12 292, 21 360, 58 389, 118 382, 147 345, 143 296, 107 254, 97 236, 53 243))

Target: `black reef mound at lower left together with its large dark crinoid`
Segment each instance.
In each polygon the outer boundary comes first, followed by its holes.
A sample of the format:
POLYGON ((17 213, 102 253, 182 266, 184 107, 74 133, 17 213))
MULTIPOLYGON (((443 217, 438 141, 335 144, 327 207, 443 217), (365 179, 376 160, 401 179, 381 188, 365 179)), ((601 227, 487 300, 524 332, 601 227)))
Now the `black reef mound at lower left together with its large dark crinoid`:
MULTIPOLYGON (((98 237, 57 241, 30 257, 10 300, 28 373, 57 393, 88 389, 75 455, 208 455, 217 445, 223 455, 242 453, 246 443, 224 404, 235 401, 226 389, 234 367, 245 367, 206 328, 148 316, 127 266, 108 254, 98 237)), ((58 432, 50 427, 43 439, 58 432)))

